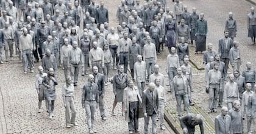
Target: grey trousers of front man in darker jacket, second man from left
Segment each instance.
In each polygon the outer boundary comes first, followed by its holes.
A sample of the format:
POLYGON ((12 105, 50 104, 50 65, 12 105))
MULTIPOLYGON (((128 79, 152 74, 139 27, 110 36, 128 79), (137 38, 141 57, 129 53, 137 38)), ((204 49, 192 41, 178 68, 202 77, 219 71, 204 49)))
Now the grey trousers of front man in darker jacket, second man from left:
POLYGON ((97 105, 96 101, 85 101, 85 111, 86 111, 88 129, 93 128, 94 113, 95 113, 96 105, 97 105))

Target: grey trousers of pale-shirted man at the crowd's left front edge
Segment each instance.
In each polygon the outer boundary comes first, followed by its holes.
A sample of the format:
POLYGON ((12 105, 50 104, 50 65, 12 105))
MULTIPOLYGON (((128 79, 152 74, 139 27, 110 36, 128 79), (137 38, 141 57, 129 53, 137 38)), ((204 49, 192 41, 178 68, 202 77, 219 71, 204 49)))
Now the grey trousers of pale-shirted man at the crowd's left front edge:
POLYGON ((32 69, 32 53, 30 49, 26 49, 23 51, 23 67, 24 71, 27 71, 27 65, 29 65, 30 69, 32 69))

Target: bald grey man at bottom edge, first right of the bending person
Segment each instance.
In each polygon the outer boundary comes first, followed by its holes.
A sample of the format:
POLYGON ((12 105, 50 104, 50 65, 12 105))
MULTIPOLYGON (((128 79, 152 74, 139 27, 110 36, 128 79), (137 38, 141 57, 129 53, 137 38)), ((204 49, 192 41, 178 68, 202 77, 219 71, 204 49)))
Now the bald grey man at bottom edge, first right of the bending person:
POLYGON ((215 118, 215 134, 233 133, 232 119, 227 115, 227 107, 221 108, 221 113, 215 118))

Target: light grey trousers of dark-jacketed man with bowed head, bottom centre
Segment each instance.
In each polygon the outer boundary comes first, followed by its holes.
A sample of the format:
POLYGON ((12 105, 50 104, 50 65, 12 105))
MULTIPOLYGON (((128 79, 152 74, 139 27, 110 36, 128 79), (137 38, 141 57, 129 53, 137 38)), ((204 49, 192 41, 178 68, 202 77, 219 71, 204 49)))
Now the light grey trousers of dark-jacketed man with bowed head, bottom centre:
POLYGON ((152 134, 157 133, 157 114, 148 115, 144 117, 144 134, 149 133, 149 118, 152 120, 152 134))

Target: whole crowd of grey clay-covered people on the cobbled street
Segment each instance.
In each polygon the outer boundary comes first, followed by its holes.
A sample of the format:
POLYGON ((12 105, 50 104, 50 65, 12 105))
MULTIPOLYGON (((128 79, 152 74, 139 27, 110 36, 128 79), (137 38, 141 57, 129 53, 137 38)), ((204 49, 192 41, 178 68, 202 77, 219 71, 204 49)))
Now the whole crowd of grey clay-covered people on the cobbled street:
MULTIPOLYGON (((23 62, 24 74, 34 72, 34 63, 41 59, 35 87, 38 93, 38 112, 45 99, 49 119, 54 117, 54 101, 57 71, 65 74, 63 104, 66 110, 66 127, 77 125, 74 105, 74 86, 78 76, 88 77, 82 88, 82 107, 87 113, 89 133, 93 128, 94 113, 99 107, 103 121, 105 116, 105 86, 112 83, 115 107, 122 103, 122 115, 128 122, 129 133, 138 132, 138 118, 144 117, 144 133, 148 133, 149 118, 152 119, 152 133, 165 130, 164 109, 166 91, 177 101, 177 112, 184 133, 194 133, 200 125, 204 133, 203 118, 191 113, 194 105, 193 77, 190 61, 190 47, 195 54, 204 54, 205 92, 209 94, 207 113, 221 113, 215 119, 216 133, 244 133, 243 120, 246 117, 247 133, 256 133, 256 71, 251 62, 241 73, 241 56, 235 41, 237 26, 233 13, 229 13, 224 26, 224 37, 219 40, 218 52, 213 44, 207 44, 207 21, 204 13, 197 14, 179 0, 173 3, 173 11, 166 1, 121 0, 116 11, 118 26, 108 27, 108 9, 104 2, 49 1, 49 0, 2 0, 0 18, 0 63, 2 51, 5 62, 13 60, 14 53, 23 62), (165 78, 159 72, 157 57, 168 48, 165 78), (129 65, 129 66, 128 66, 129 65), (233 73, 228 74, 229 65, 233 73), (129 67, 129 68, 128 68, 129 67), (110 70, 117 69, 114 76, 110 70), (130 76, 127 74, 130 70, 130 76), (135 82, 135 83, 133 83, 135 82), (135 86, 136 85, 136 86, 135 86), (168 89, 168 90, 166 90, 168 89), (183 115, 182 102, 187 115, 183 115), (227 107, 223 105, 227 104, 227 107)), ((254 7, 247 15, 248 37, 255 44, 256 15, 254 7)))

